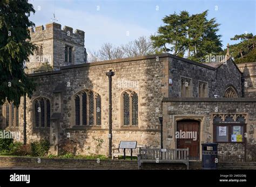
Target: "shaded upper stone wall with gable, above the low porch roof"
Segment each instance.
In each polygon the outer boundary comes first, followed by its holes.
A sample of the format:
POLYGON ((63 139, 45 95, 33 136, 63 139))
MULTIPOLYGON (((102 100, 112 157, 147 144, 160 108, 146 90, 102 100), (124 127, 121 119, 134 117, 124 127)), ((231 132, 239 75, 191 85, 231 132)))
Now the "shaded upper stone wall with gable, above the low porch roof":
POLYGON ((181 76, 192 79, 192 97, 199 95, 199 81, 208 83, 208 97, 224 97, 229 85, 233 85, 241 97, 241 73, 231 59, 215 69, 178 56, 170 56, 172 58, 169 61, 169 77, 173 84, 169 86, 169 97, 181 97, 181 76))

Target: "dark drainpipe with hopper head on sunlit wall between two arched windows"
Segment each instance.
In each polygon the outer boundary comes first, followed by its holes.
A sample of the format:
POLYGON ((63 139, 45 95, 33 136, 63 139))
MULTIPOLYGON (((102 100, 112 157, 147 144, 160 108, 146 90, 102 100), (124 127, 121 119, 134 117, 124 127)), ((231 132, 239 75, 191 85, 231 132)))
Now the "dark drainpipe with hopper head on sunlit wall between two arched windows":
POLYGON ((114 76, 112 69, 106 73, 106 76, 109 77, 109 157, 112 157, 112 76, 114 76))

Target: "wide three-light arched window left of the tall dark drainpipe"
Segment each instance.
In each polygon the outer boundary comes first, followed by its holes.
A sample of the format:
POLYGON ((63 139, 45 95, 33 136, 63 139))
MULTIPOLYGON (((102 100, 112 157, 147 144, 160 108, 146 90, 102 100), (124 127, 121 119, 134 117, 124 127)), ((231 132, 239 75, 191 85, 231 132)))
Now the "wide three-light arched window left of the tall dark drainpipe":
POLYGON ((83 90, 75 96, 75 125, 102 125, 102 103, 98 93, 83 90))

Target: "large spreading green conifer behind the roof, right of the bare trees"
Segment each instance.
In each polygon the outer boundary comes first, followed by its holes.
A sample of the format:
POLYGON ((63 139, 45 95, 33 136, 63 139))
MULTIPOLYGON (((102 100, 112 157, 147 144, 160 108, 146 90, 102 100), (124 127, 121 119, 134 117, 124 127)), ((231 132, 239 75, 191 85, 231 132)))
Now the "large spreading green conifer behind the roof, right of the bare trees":
POLYGON ((206 55, 217 54, 221 49, 221 35, 217 35, 219 24, 215 18, 207 20, 207 11, 189 15, 181 11, 179 15, 163 18, 164 26, 158 28, 158 35, 152 35, 154 47, 160 47, 164 52, 203 62, 206 55), (170 46, 167 48, 166 46, 170 46))

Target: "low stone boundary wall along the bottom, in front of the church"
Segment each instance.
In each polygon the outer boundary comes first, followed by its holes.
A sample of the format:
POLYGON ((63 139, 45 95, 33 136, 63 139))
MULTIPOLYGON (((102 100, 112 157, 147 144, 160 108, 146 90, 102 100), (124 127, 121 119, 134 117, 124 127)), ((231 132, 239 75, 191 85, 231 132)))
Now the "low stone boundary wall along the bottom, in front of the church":
MULTIPOLYGON (((86 159, 49 159, 26 156, 0 156, 0 169, 38 168, 38 169, 138 169, 136 160, 86 160, 86 159)), ((143 163, 142 169, 186 169, 185 164, 143 163)), ((190 169, 201 169, 201 161, 190 161, 190 169)), ((256 169, 256 162, 220 162, 218 169, 256 169)))

